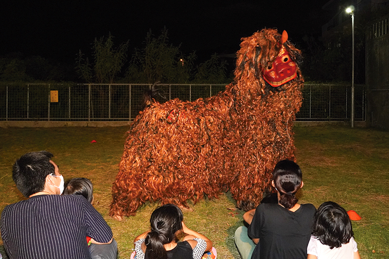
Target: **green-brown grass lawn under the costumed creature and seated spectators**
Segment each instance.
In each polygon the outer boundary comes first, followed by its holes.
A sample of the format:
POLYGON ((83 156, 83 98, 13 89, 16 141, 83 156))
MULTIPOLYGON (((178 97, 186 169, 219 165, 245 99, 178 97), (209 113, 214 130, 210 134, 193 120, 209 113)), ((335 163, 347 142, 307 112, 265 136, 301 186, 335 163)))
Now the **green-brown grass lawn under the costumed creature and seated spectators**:
MULTIPOLYGON (((137 215, 118 222, 108 217, 111 186, 123 154, 128 127, 0 128, 0 211, 23 199, 12 181, 12 165, 26 152, 47 150, 65 181, 87 177, 94 184, 95 207, 111 226, 120 259, 130 258, 134 238, 147 230, 158 203, 145 204, 137 215), (96 143, 90 143, 95 139, 96 143)), ((389 133, 348 127, 295 127, 297 162, 303 172, 301 203, 318 207, 334 201, 353 209, 353 222, 363 259, 389 257, 389 133)), ((243 211, 234 210, 229 193, 203 200, 184 211, 188 227, 209 237, 219 259, 236 258, 235 229, 243 211)), ((7 256, 0 241, 3 259, 7 256)))

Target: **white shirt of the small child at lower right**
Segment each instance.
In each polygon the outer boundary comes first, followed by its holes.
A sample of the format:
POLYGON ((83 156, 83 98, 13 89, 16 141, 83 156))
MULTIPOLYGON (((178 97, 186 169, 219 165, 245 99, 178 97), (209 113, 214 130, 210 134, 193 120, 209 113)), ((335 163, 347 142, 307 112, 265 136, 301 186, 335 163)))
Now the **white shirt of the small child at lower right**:
POLYGON ((307 253, 318 259, 353 259, 356 251, 358 248, 354 238, 351 238, 347 244, 330 249, 328 245, 322 244, 316 237, 311 236, 307 247, 307 253))

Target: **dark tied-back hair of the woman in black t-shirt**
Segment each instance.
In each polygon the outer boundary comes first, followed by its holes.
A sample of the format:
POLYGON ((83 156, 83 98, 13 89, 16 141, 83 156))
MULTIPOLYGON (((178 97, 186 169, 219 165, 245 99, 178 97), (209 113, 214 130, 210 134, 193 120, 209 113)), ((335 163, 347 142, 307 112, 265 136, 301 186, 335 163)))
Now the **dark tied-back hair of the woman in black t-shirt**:
POLYGON ((276 190, 280 192, 280 204, 289 209, 299 201, 295 194, 301 188, 302 173, 298 164, 290 160, 277 163, 273 171, 276 190))

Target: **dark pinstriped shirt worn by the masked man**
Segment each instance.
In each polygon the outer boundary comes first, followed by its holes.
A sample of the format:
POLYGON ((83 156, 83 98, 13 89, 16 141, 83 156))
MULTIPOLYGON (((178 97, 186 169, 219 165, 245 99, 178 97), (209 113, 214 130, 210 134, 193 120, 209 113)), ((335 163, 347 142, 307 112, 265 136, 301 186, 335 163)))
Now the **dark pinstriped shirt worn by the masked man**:
POLYGON ((90 259, 86 236, 106 243, 111 228, 82 195, 38 195, 1 213, 10 259, 90 259))

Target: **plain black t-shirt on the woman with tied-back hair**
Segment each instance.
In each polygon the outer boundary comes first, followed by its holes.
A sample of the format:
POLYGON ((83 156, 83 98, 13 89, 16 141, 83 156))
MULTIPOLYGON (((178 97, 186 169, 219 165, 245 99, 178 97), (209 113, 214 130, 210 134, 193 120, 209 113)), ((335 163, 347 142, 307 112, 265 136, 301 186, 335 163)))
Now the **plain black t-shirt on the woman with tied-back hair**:
POLYGON ((306 259, 316 208, 302 204, 295 212, 278 204, 260 204, 248 227, 259 238, 251 259, 306 259))

